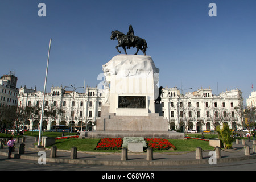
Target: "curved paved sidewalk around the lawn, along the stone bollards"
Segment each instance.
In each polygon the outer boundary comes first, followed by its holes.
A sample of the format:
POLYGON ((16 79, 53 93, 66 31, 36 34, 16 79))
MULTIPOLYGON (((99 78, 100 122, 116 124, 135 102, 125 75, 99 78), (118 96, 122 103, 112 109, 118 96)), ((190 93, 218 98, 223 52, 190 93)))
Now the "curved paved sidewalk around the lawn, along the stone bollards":
MULTIPOLYGON (((209 151, 203 151, 203 159, 196 159, 195 151, 191 152, 171 152, 171 153, 160 153, 154 152, 153 160, 146 160, 146 152, 143 154, 133 154, 128 153, 128 160, 121 160, 121 153, 104 153, 104 152, 80 152, 77 151, 77 159, 71 159, 71 151, 57 150, 56 158, 49 158, 51 150, 46 148, 34 148, 32 144, 35 143, 35 137, 26 136, 25 153, 18 155, 19 144, 16 143, 15 152, 12 154, 12 158, 20 158, 26 160, 36 160, 41 157, 39 151, 46 152, 46 162, 55 163, 70 163, 70 164, 86 164, 86 165, 105 165, 105 166, 170 166, 170 165, 188 165, 188 164, 208 164, 209 151)), ((245 156, 245 151, 243 150, 243 145, 233 144, 233 148, 237 150, 224 151, 221 150, 221 159, 217 159, 218 163, 235 162, 240 160, 256 159, 256 154, 253 153, 253 142, 247 142, 246 144, 250 146, 250 155, 245 156)), ((0 149, 0 155, 8 155, 8 148, 4 147, 0 149)))

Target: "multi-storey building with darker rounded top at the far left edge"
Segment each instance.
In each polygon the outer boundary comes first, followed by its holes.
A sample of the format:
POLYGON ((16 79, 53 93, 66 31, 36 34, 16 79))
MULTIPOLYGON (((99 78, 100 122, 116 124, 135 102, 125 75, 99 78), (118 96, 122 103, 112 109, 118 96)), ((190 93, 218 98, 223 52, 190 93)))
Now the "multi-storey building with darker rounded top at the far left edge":
POLYGON ((18 78, 14 72, 0 77, 0 107, 16 106, 19 89, 16 88, 18 78))

